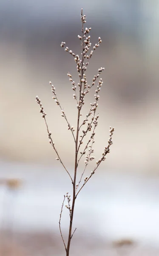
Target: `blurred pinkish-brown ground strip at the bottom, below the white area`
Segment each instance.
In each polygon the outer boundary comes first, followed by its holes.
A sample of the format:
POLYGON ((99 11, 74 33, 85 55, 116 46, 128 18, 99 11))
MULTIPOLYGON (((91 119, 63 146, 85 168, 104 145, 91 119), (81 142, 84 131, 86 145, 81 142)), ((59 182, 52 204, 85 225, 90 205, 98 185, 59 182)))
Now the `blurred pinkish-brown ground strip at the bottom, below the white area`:
MULTIPOLYGON (((3 238, 4 239, 4 238, 3 238)), ((3 241, 3 240, 1 240, 3 241)), ((7 241, 0 247, 3 256, 63 256, 64 249, 61 240, 51 233, 16 233, 12 243, 7 241)), ((84 256, 157 256, 159 249, 141 246, 138 244, 116 245, 96 239, 89 239, 87 242, 83 237, 74 239, 70 255, 84 256), (78 248, 78 249, 77 249, 78 248)))

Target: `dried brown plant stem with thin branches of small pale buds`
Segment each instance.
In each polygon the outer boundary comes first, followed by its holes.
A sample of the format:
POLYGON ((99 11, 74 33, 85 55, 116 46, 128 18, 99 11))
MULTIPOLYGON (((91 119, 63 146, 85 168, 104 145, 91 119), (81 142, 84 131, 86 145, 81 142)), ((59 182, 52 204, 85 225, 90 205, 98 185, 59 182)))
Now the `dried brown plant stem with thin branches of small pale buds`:
POLYGON ((98 84, 97 84, 97 88, 95 90, 95 94, 94 94, 95 100, 94 100, 94 102, 91 103, 91 107, 88 111, 88 114, 85 116, 84 119, 82 119, 82 122, 81 122, 81 118, 82 118, 81 117, 82 116, 81 109, 83 108, 83 105, 85 103, 86 94, 88 94, 89 91, 93 89, 92 87, 95 86, 95 83, 96 83, 97 79, 99 78, 99 75, 104 70, 104 67, 101 67, 101 68, 98 69, 97 76, 94 76, 92 83, 88 84, 87 78, 86 78, 86 70, 87 70, 89 61, 90 61, 94 51, 102 43, 102 40, 99 37, 98 38, 98 43, 95 44, 95 46, 91 50, 90 35, 88 35, 89 32, 91 31, 91 28, 89 28, 89 29, 85 28, 84 29, 84 24, 86 23, 86 16, 83 15, 82 10, 81 10, 81 22, 82 22, 82 35, 78 35, 78 38, 81 41, 81 46, 82 46, 81 56, 82 57, 80 58, 79 55, 76 55, 71 50, 69 50, 68 47, 65 47, 65 42, 61 43, 61 47, 64 48, 66 52, 69 52, 74 57, 74 61, 77 64, 77 73, 78 73, 79 80, 80 80, 79 83, 76 85, 75 82, 72 79, 71 74, 70 73, 67 74, 68 77, 69 77, 69 80, 71 81, 71 84, 73 86, 72 87, 72 90, 74 91, 73 98, 77 102, 77 127, 76 128, 71 126, 70 123, 68 122, 65 111, 62 109, 61 104, 60 104, 60 102, 57 98, 55 87, 50 81, 51 90, 52 90, 52 93, 54 94, 54 96, 52 98, 55 100, 56 104, 60 107, 60 109, 62 111, 61 116, 63 118, 65 118, 65 120, 68 124, 68 130, 71 131, 72 136, 73 136, 73 140, 74 140, 74 143, 75 143, 74 176, 73 177, 71 177, 70 172, 68 171, 68 169, 66 169, 66 167, 65 167, 65 165, 64 165, 64 163, 63 163, 63 161, 62 161, 62 159, 61 159, 61 157, 60 157, 60 155, 57 151, 57 148, 54 145, 53 139, 51 137, 51 131, 49 131, 48 124, 46 122, 46 113, 44 111, 43 105, 42 105, 39 97, 36 96, 36 102, 40 105, 40 113, 42 113, 42 117, 45 121, 45 125, 46 125, 46 128, 47 128, 49 143, 54 148, 54 151, 57 154, 56 160, 59 160, 59 162, 62 164, 65 171, 68 173, 68 175, 71 179, 71 183, 73 185, 72 203, 71 203, 71 195, 68 195, 68 192, 67 192, 66 195, 64 195, 64 199, 63 199, 63 202, 62 202, 62 208, 61 208, 60 220, 59 220, 60 234, 61 234, 62 241, 63 241, 64 247, 65 247, 66 256, 69 256, 71 239, 72 239, 72 236, 74 235, 74 232, 76 230, 75 229, 72 232, 72 223, 73 223, 73 217, 74 217, 75 201, 76 201, 77 196, 79 195, 81 189, 85 186, 85 184, 88 182, 88 180, 90 180, 90 178, 94 175, 94 173, 96 172, 100 163, 102 163, 102 161, 104 161, 106 159, 106 155, 110 152, 110 146, 113 144, 112 135, 113 135, 113 132, 114 132, 114 128, 110 127, 110 131, 109 131, 110 132, 110 137, 108 139, 108 145, 105 146, 104 151, 102 152, 100 159, 96 161, 96 166, 91 171, 89 177, 85 177, 83 179, 83 175, 84 175, 85 170, 88 166, 88 163, 91 160, 94 160, 94 158, 95 158, 92 155, 94 153, 94 149, 92 148, 92 146, 95 142, 95 140, 94 140, 95 130, 96 130, 97 125, 98 125, 99 114, 96 115, 96 112, 97 112, 98 101, 99 101, 99 92, 100 92, 102 84, 103 84, 102 78, 99 79, 98 84), (90 53, 88 54, 89 51, 90 51, 90 53), (85 61, 85 63, 84 63, 84 61, 85 61), (84 129, 84 127, 85 127, 84 125, 86 126, 85 129, 84 129), (91 135, 89 136, 89 139, 88 139, 84 149, 81 149, 81 145, 84 142, 85 136, 89 133, 91 133, 91 135), (79 164, 83 155, 86 155, 85 156, 85 161, 84 161, 84 169, 83 169, 83 172, 81 174, 80 180, 77 183, 77 168, 78 168, 78 164, 79 164), (80 185, 80 183, 82 183, 82 185, 80 185), (68 201, 68 203, 65 205, 65 207, 68 209, 69 216, 70 216, 70 224, 69 224, 67 244, 64 241, 64 238, 62 236, 62 231, 61 231, 61 216, 62 216, 62 210, 63 210, 65 200, 68 201))

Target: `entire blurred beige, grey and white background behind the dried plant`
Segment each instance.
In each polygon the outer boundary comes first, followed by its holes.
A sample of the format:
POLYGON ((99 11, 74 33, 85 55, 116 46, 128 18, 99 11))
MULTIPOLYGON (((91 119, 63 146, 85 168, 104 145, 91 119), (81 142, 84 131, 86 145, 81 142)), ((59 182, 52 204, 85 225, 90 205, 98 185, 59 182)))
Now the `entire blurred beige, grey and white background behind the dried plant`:
MULTIPOLYGON (((115 132, 111 154, 77 200, 70 255, 159 255, 159 0, 1 0, 0 256, 65 255, 58 221, 63 195, 72 187, 48 143, 35 97, 73 175, 74 142, 49 81, 76 127, 67 76, 78 83, 76 64, 60 44, 80 55, 81 8, 92 46, 102 39, 88 65, 88 83, 105 67, 97 159, 110 125, 115 132)), ((92 89, 83 114, 94 101, 92 89)), ((82 164, 78 178, 81 172, 82 164)), ((65 239, 68 221, 64 209, 65 239)))

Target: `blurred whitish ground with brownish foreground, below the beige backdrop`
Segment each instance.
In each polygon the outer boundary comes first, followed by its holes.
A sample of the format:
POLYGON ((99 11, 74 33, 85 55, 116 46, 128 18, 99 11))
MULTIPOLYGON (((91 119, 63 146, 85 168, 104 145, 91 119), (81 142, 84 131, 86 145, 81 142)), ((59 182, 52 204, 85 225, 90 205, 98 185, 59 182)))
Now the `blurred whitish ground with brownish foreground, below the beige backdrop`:
MULTIPOLYGON (((40 250, 42 256, 49 256, 49 253, 63 255, 58 221, 63 195, 71 189, 71 184, 69 186, 66 182, 66 173, 58 167, 56 173, 51 173, 55 166, 46 168, 1 162, 0 167, 4 170, 0 180, 4 177, 11 180, 14 174, 21 181, 17 188, 0 186, 0 234, 5 237, 5 242, 13 243, 13 247, 20 246, 26 255, 34 255, 31 250, 37 250, 35 255, 39 255, 40 250)), ((77 247, 77 255, 90 253, 104 256, 105 252, 116 255, 114 242, 123 239, 130 239, 132 244, 116 244, 119 255, 127 255, 123 254, 125 250, 131 251, 134 256, 138 253, 157 255, 158 188, 159 179, 156 178, 96 173, 77 201, 74 215, 77 230, 72 240, 72 255, 77 247), (126 249, 123 249, 125 246, 126 249)), ((64 209, 62 230, 65 239, 68 221, 68 212, 64 209)))

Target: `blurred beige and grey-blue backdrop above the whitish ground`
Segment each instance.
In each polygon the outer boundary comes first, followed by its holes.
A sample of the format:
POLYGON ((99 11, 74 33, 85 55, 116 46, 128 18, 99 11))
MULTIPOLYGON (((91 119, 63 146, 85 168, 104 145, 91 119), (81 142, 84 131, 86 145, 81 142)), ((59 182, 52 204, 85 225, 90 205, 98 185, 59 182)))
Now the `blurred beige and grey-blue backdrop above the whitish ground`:
MULTIPOLYGON (((125 4, 123 1, 119 5, 117 1, 105 1, 102 6, 93 5, 91 9, 85 3, 84 11, 88 17, 86 24, 92 27, 92 44, 96 43, 98 36, 102 38, 101 47, 90 61, 88 82, 91 82, 99 67, 105 67, 98 110, 100 122, 96 154, 100 155, 107 141, 109 126, 114 126, 114 145, 107 166, 116 169, 116 172, 128 172, 130 169, 131 172, 156 175, 159 140, 156 33, 158 2, 154 1, 150 9, 147 9, 148 2, 128 2, 125 4)), ((67 16, 64 6, 58 9, 58 5, 54 6, 54 1, 48 3, 41 2, 34 12, 29 4, 34 7, 35 3, 29 1, 19 7, 17 4, 17 8, 10 6, 8 12, 11 9, 12 12, 8 21, 4 13, 1 17, 2 160, 53 163, 54 154, 47 143, 45 126, 35 103, 36 95, 40 97, 48 113, 49 127, 65 161, 71 163, 71 157, 74 156, 74 149, 68 150, 71 136, 67 131, 67 124, 60 117, 60 109, 51 99, 48 82, 51 80, 56 86, 68 119, 75 126, 76 103, 66 74, 69 71, 77 81, 76 65, 72 56, 63 52, 60 42, 66 41, 75 53, 80 52, 77 38, 80 34, 80 10, 72 3, 72 15, 71 9, 66 5, 65 8, 70 13, 67 16), (25 9, 23 15, 18 8, 25 9), (52 15, 47 15, 45 12, 49 14, 51 8, 52 15)), ((87 98, 88 103, 94 100, 91 94, 87 98)))

